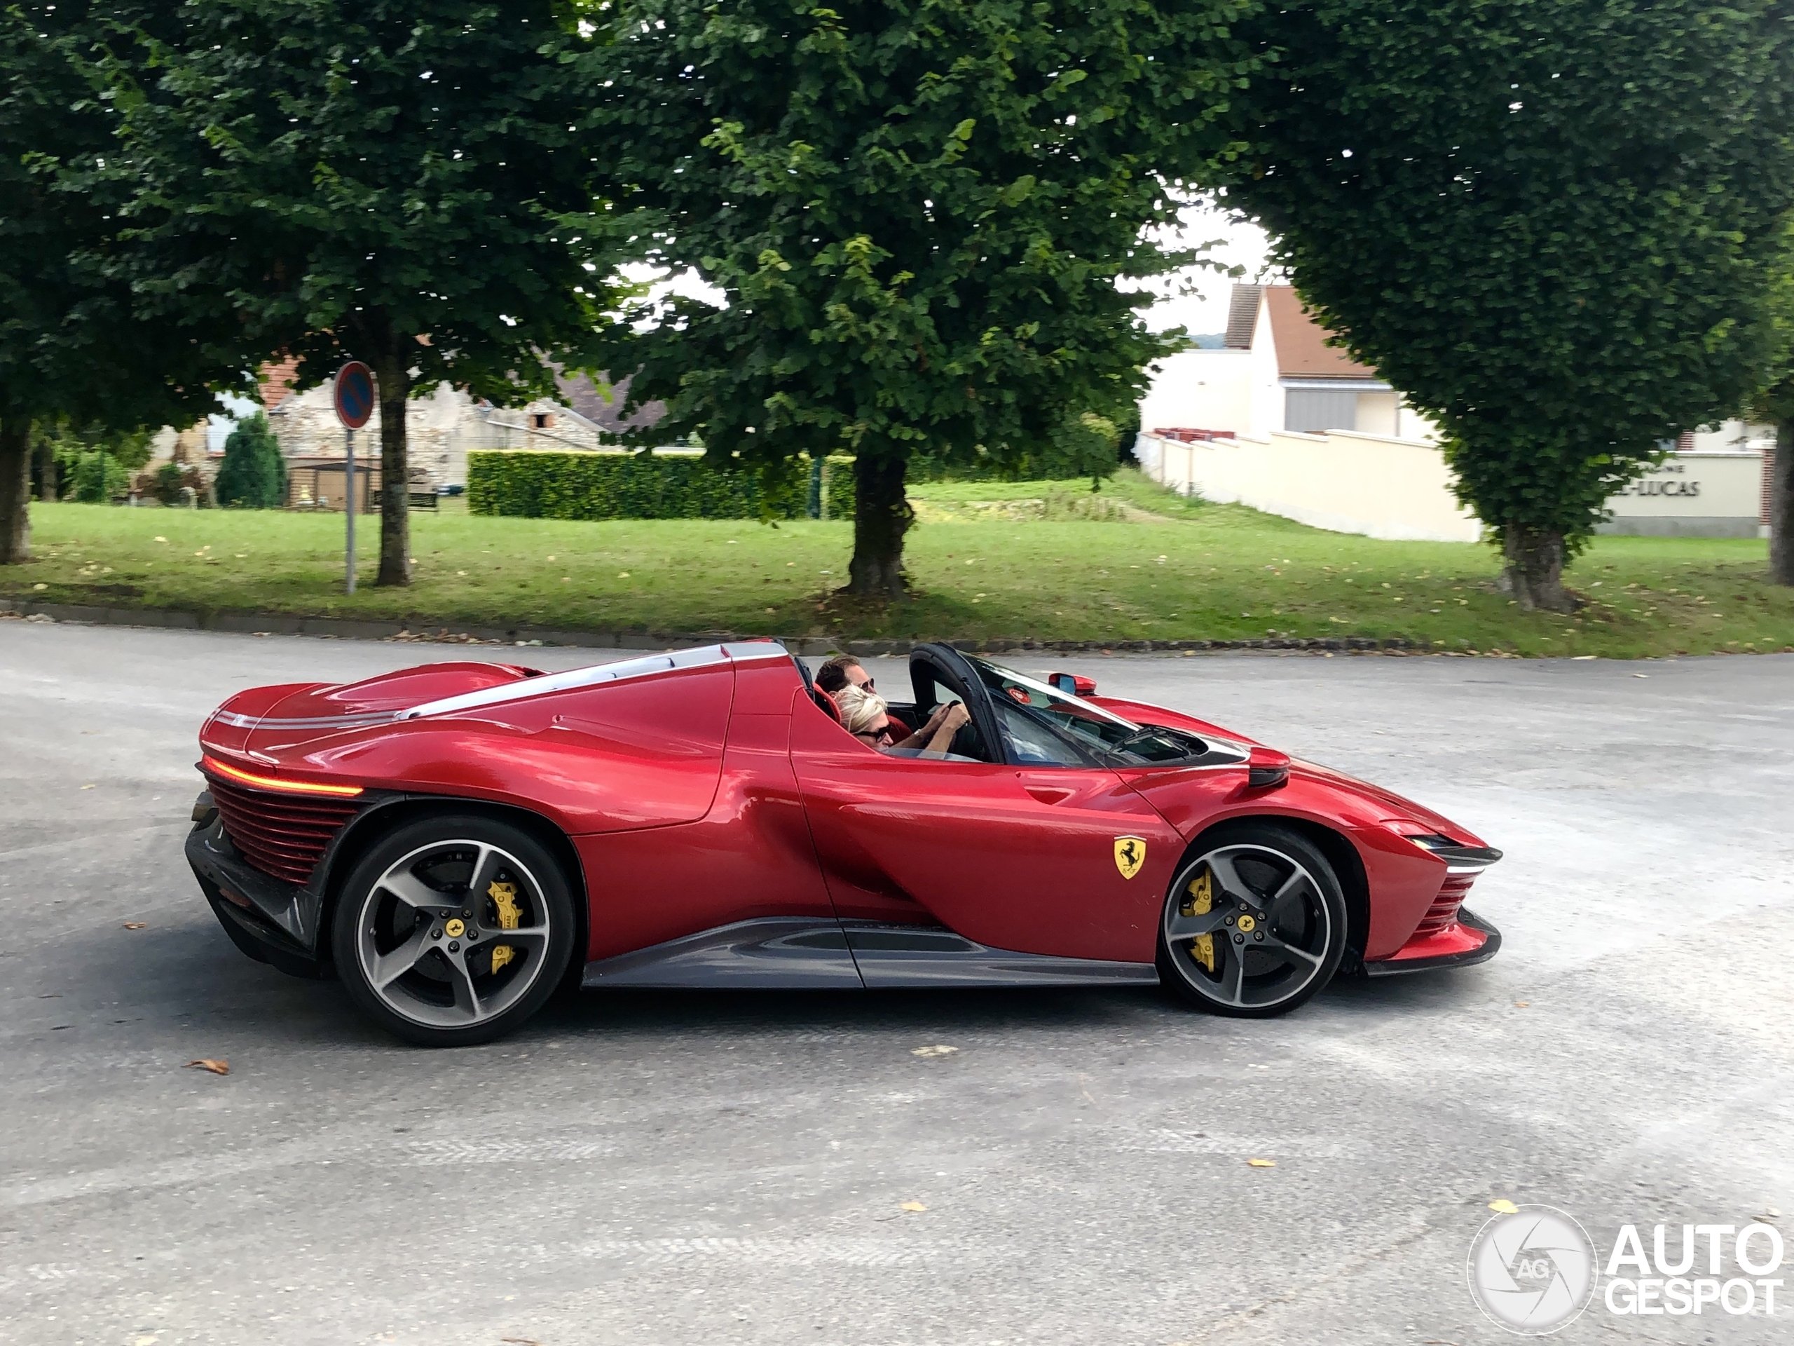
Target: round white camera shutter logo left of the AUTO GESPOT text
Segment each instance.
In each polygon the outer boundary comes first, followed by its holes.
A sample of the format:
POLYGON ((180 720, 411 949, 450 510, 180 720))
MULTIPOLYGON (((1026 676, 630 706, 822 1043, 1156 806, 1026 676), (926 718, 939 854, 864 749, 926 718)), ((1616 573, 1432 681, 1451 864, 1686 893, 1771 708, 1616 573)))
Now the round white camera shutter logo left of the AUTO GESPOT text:
POLYGON ((1554 1206, 1496 1215, 1469 1245, 1469 1292, 1489 1319, 1521 1337, 1566 1326, 1595 1296, 1595 1244, 1554 1206))

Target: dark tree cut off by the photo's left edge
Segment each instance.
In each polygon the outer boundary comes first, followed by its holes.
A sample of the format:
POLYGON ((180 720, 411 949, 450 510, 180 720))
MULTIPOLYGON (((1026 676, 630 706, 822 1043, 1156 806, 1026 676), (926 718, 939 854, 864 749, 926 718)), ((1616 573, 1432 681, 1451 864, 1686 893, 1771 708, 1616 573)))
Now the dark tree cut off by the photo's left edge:
POLYGON ((118 224, 88 188, 113 120, 77 61, 100 32, 84 4, 0 7, 0 564, 30 558, 34 424, 48 483, 66 422, 127 456, 147 443, 136 427, 197 420, 213 386, 251 386, 108 275, 118 224))

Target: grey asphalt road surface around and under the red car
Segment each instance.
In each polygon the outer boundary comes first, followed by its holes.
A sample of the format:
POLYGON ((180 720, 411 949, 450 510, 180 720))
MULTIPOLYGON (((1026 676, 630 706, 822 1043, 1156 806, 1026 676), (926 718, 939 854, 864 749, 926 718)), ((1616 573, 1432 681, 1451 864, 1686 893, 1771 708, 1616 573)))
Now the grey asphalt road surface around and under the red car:
POLYGON ((0 621, 0 1342, 1469 1346, 1494 1199, 1794 1244, 1790 657, 1060 662, 1505 849, 1482 967, 1268 1023, 608 992, 425 1052, 239 955, 179 842, 233 689, 466 653, 0 621))

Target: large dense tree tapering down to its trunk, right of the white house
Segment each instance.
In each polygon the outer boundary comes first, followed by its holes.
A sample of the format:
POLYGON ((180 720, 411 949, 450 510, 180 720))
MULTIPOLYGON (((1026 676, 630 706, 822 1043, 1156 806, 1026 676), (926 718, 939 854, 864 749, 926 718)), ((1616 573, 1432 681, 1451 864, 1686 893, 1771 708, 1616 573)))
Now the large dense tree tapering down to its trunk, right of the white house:
POLYGON ((1789 0, 1308 0, 1250 25, 1229 199, 1437 420, 1523 607, 1744 402, 1794 199, 1789 0))

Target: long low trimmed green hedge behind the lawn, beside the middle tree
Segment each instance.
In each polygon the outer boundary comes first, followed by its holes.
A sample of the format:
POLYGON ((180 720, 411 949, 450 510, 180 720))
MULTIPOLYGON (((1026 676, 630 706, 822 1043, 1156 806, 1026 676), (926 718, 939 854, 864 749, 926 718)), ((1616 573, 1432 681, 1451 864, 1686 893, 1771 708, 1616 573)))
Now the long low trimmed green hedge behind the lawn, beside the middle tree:
MULTIPOLYGON (((854 459, 829 458, 822 515, 854 513, 854 459)), ((466 456, 470 513, 518 519, 807 519, 811 474, 791 474, 764 494, 759 474, 730 472, 696 454, 477 450, 466 456)))

